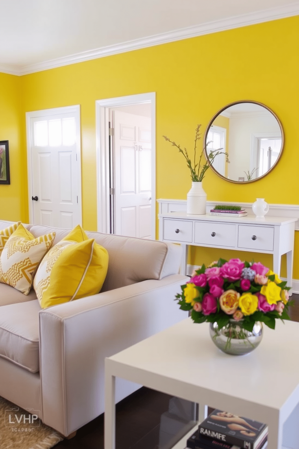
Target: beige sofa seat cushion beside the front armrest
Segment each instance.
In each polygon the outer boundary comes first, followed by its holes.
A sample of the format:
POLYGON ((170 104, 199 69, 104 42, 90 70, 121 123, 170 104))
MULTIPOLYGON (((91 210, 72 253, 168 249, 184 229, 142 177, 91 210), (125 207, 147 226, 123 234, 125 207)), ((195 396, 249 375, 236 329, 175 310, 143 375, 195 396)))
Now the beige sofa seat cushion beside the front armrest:
POLYGON ((1 307, 0 357, 26 370, 39 371, 39 301, 1 307))

